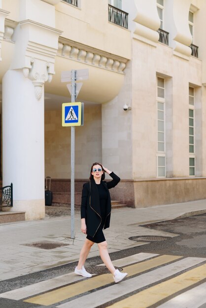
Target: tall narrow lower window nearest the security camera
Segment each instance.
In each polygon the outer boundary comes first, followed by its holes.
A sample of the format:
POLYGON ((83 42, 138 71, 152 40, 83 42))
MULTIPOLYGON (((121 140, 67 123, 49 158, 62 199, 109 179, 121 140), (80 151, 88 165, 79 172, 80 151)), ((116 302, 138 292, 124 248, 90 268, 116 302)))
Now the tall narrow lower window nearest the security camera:
POLYGON ((165 79, 157 77, 157 176, 166 176, 165 79))

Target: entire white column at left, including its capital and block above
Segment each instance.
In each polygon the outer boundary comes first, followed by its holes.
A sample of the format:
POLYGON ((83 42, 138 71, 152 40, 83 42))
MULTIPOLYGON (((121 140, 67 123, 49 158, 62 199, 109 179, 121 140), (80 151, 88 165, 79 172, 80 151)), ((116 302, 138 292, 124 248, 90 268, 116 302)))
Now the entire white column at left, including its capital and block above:
POLYGON ((26 219, 45 216, 44 83, 55 73, 62 33, 53 28, 58 1, 19 1, 13 59, 2 79, 3 185, 13 183, 11 211, 26 219))

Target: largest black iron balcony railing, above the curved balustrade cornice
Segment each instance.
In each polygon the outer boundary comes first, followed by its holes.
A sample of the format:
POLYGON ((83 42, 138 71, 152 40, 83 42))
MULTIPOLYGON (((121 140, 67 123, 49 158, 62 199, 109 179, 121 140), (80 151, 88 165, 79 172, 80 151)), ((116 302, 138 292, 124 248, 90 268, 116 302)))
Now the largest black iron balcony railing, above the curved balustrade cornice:
POLYGON ((119 8, 108 5, 108 19, 111 23, 128 29, 128 13, 119 8))

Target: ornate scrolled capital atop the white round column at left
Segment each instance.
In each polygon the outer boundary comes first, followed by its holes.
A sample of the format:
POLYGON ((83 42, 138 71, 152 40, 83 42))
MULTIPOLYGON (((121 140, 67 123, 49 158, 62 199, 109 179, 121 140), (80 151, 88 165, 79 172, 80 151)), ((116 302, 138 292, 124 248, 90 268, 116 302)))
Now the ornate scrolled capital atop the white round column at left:
POLYGON ((14 32, 15 54, 11 69, 22 69, 34 84, 35 96, 40 99, 42 86, 55 74, 54 62, 58 39, 62 31, 31 20, 19 23, 14 32))

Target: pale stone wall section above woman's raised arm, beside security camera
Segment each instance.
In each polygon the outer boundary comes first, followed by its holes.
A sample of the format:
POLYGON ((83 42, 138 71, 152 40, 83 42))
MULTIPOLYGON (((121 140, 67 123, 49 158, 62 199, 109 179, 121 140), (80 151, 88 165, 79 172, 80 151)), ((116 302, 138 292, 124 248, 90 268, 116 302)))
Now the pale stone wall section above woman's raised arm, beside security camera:
MULTIPOLYGON (((131 105, 131 63, 125 69, 124 85, 119 94, 102 105, 103 164, 121 179, 132 179, 132 112, 123 110, 131 105)), ((109 179, 109 177, 107 177, 109 179)))

